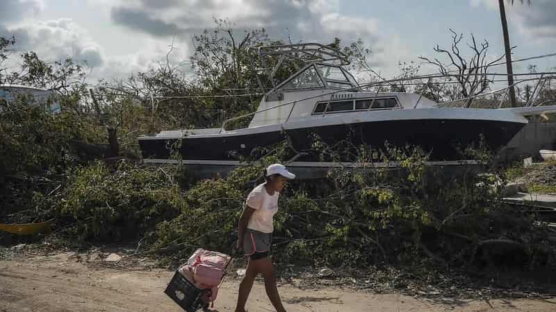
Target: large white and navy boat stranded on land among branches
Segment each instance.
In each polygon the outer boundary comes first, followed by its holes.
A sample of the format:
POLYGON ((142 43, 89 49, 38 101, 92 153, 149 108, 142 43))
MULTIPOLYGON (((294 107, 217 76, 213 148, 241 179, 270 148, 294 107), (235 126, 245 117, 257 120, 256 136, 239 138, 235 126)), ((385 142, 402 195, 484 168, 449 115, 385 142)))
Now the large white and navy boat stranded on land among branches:
MULTIPOLYGON (((366 91, 345 69, 347 56, 321 44, 262 46, 258 55, 279 58, 269 70, 271 82, 284 60, 300 60, 304 55, 305 64, 283 82, 273 83, 256 112, 228 119, 220 128, 165 130, 139 137, 144 161, 237 166, 241 157, 250 157, 257 148, 284 140, 293 150, 311 150, 317 137, 329 146, 343 140, 377 148, 385 142, 420 146, 431 161, 453 162, 459 159, 461 147, 475 144, 481 137, 489 148, 498 150, 528 123, 526 116, 556 112, 556 105, 441 107, 421 94, 366 91), (247 128, 227 129, 227 124, 240 119, 250 119, 247 128), (179 160, 172 157, 172 148, 179 152, 179 160)), ((306 153, 292 164, 322 167, 323 163, 306 153)))

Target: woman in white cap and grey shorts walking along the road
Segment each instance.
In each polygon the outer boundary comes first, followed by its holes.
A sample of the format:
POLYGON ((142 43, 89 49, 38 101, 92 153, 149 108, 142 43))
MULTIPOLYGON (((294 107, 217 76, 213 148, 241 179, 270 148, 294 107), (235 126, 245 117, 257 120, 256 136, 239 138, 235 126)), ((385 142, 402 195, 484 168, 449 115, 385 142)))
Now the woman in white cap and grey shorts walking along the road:
POLYGON ((286 186, 286 182, 294 179, 295 175, 281 164, 272 164, 265 169, 264 177, 266 182, 259 184, 247 196, 239 220, 237 247, 243 248, 245 256, 249 259, 245 277, 239 286, 236 312, 245 312, 247 297, 259 273, 263 275, 266 294, 276 311, 286 311, 278 294, 275 270, 268 252, 274 231, 272 220, 278 211, 279 193, 286 186))

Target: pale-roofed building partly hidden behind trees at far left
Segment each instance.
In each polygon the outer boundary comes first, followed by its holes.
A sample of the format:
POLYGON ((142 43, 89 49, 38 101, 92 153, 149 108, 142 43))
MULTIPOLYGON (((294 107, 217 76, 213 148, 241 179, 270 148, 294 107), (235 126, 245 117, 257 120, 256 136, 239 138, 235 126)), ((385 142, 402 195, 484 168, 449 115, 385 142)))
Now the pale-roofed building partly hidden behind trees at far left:
POLYGON ((15 101, 18 96, 31 96, 35 103, 49 104, 53 114, 58 114, 61 110, 58 95, 54 91, 24 85, 0 85, 0 98, 8 103, 15 101))

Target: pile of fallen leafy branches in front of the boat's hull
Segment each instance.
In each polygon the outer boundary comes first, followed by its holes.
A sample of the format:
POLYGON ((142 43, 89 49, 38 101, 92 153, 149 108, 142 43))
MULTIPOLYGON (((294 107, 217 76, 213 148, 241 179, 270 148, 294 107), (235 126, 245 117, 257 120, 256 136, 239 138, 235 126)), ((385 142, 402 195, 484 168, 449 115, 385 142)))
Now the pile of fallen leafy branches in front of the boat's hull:
MULTIPOLYGON (((362 163, 376 155, 400 166, 366 162, 354 170, 338 168, 326 179, 288 185, 275 216, 276 261, 317 266, 434 261, 457 267, 480 258, 478 242, 500 238, 526 244, 529 254, 541 258, 553 254, 543 239, 545 229, 532 216, 496 203, 493 175, 454 175, 426 166, 427 156, 418 148, 390 147, 387 153, 359 148, 362 163)), ((186 192, 181 215, 149 236, 151 246, 185 244, 172 259, 198 247, 231 252, 251 182, 263 164, 276 161, 265 158, 226 179, 199 182, 186 192)))

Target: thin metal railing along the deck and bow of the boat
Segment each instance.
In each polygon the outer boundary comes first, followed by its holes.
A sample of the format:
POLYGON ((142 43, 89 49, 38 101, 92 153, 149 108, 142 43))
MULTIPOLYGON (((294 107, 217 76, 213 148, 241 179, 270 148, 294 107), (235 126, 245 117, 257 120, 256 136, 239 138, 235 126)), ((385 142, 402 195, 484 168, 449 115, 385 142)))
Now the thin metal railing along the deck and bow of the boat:
MULTIPOLYGON (((488 76, 507 76, 507 74, 505 74, 505 73, 488 73, 486 75, 488 75, 488 76)), ((550 73, 514 73, 514 76, 533 76, 533 75, 539 75, 541 77, 521 79, 521 80, 518 80, 516 83, 514 83, 511 86, 502 87, 500 89, 496 89, 496 90, 493 90, 491 92, 484 92, 484 93, 480 93, 480 94, 474 94, 473 96, 468 96, 466 98, 459 98, 459 99, 454 100, 454 101, 442 102, 442 103, 438 104, 438 107, 443 107, 443 106, 450 105, 450 104, 453 104, 453 103, 465 103, 468 100, 474 101, 476 98, 480 98, 480 97, 483 97, 483 96, 488 96, 488 95, 491 95, 491 94, 497 94, 497 93, 505 92, 505 96, 502 96, 502 98, 500 100, 500 104, 498 105, 498 108, 500 108, 502 106, 502 104, 505 100, 505 97, 507 96, 507 92, 509 91, 510 88, 515 87, 516 85, 519 85, 521 83, 526 83, 526 82, 537 80, 537 85, 535 85, 535 87, 534 87, 534 92, 533 92, 531 98, 529 98, 527 103, 525 103, 525 106, 531 106, 534 103, 534 99, 537 98, 538 95, 539 95, 538 91, 539 91, 540 87, 542 86, 541 84, 546 83, 547 80, 556 79, 556 72, 550 72, 550 73)), ((379 82, 367 83, 367 84, 359 85, 358 87, 353 87, 353 88, 350 88, 350 89, 338 89, 338 90, 334 90, 332 92, 328 92, 328 93, 325 93, 325 94, 307 96, 305 98, 300 98, 300 99, 296 99, 294 101, 288 101, 286 103, 281 103, 279 105, 274 105, 272 107, 267 107, 263 110, 257 110, 256 112, 250 112, 250 113, 247 113, 247 114, 243 114, 241 116, 236 116, 236 117, 226 119, 222 123, 222 126, 220 127, 219 133, 221 133, 222 130, 225 130, 226 125, 228 123, 230 123, 231 121, 237 121, 237 120, 240 120, 240 119, 245 119, 245 118, 250 117, 250 116, 255 116, 256 114, 260 114, 260 113, 263 113, 263 112, 268 112, 270 110, 276 110, 277 108, 284 107, 286 105, 291 105, 290 111, 288 112, 288 116, 286 116, 286 119, 281 122, 282 124, 287 123, 289 121, 290 117, 291 117, 291 114, 292 114, 292 112, 295 108, 295 104, 297 102, 311 100, 313 98, 321 98, 322 96, 329 96, 329 95, 333 95, 333 94, 337 94, 337 93, 341 93, 341 92, 353 92, 353 91, 357 91, 357 90, 361 90, 361 89, 370 89, 372 87, 378 87, 377 92, 375 93, 375 97, 373 98, 373 102, 374 102, 376 96, 378 96, 378 94, 381 90, 380 87, 382 87, 383 85, 392 85, 393 83, 400 83, 400 82, 412 81, 412 80, 423 80, 423 79, 432 79, 432 78, 455 78, 455 77, 458 77, 458 75, 438 74, 438 75, 416 76, 416 77, 410 77, 410 78, 396 78, 396 79, 383 80, 383 81, 379 81, 379 82)), ((427 84, 423 83, 423 85, 427 85, 427 84)), ((423 89, 423 92, 420 93, 419 98, 417 99, 416 103, 414 104, 414 108, 416 108, 418 106, 418 104, 420 103, 421 98, 423 97, 423 93, 425 92, 425 90, 426 89, 423 89)), ((327 105, 327 107, 325 107, 325 111, 322 113, 322 116, 326 116, 328 106, 329 105, 327 105)), ((372 107, 372 104, 369 105, 369 107, 372 107)))

